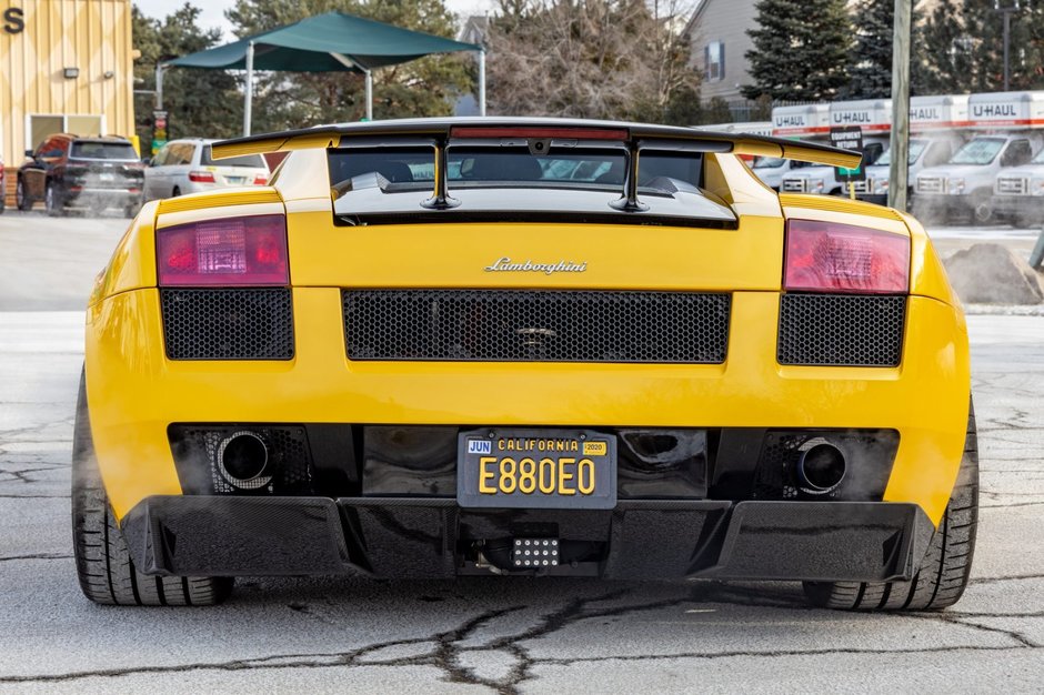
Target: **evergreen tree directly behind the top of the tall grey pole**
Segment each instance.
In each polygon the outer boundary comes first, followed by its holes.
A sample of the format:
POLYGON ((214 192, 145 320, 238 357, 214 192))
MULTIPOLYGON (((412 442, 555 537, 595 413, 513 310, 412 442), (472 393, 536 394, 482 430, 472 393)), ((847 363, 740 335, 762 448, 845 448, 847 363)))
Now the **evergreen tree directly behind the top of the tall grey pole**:
MULTIPOLYGON (((910 92, 922 92, 924 77, 924 18, 914 2, 910 27, 910 92)), ((892 42, 895 0, 861 0, 853 14, 855 60, 852 81, 844 90, 849 99, 887 99, 892 95, 892 42)))

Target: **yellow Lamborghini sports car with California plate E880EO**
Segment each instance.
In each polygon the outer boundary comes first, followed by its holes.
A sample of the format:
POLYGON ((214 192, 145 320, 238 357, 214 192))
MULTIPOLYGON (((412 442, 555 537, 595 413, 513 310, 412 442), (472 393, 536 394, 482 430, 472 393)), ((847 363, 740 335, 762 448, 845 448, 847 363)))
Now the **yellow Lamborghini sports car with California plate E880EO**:
POLYGON ((90 600, 331 573, 960 598, 967 335, 924 230, 776 194, 737 157, 851 153, 511 118, 213 145, 280 150, 265 188, 144 205, 98 276, 73 452, 90 600))

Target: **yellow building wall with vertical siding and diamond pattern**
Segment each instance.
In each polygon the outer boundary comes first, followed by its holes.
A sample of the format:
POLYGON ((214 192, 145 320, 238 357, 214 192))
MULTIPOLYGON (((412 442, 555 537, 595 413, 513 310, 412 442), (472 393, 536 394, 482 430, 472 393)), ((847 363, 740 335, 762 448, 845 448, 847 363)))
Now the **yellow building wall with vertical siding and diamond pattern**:
POLYGON ((131 51, 129 0, 0 0, 0 153, 4 165, 17 168, 24 150, 37 144, 28 141, 29 114, 104 115, 106 133, 132 135, 131 51), (4 31, 8 8, 22 10, 20 33, 4 31), (79 77, 63 77, 64 68, 78 68, 79 77))

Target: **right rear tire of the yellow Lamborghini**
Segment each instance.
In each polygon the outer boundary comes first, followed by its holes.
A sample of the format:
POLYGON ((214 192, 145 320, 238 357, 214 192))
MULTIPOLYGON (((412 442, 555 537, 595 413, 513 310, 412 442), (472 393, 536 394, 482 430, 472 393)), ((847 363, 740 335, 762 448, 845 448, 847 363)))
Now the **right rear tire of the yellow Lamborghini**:
POLYGON ((938 611, 961 598, 972 571, 978 525, 978 444, 968 413, 957 482, 921 567, 910 582, 805 582, 815 606, 845 611, 938 611))

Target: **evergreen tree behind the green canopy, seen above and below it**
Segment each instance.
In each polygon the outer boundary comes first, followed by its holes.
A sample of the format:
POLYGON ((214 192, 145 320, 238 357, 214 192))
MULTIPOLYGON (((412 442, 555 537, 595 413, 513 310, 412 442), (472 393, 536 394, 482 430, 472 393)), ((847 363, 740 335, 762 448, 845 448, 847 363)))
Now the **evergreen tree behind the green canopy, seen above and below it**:
MULTIPOLYGON (((443 0, 237 0, 225 17, 238 37, 291 24, 305 17, 340 10, 453 38, 455 17, 443 0)), ((375 119, 448 115, 460 93, 474 87, 473 57, 429 56, 373 72, 375 119)), ((275 72, 257 77, 254 132, 314 123, 357 121, 365 115, 365 83, 351 72, 275 72)))

